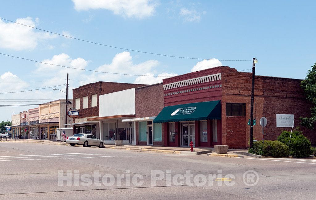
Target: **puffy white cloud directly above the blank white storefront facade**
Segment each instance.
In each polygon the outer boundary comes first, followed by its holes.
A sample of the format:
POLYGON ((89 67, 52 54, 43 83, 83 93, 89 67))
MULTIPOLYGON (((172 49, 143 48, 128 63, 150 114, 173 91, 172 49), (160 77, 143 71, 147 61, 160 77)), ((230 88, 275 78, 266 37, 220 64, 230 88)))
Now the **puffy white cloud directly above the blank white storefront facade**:
MULTIPOLYGON (((111 64, 104 64, 95 69, 96 71, 123 73, 123 74, 144 74, 154 70, 159 65, 157 60, 147 60, 143 63, 134 64, 130 52, 118 53, 112 59, 111 64)), ((130 79, 131 76, 106 74, 94 72, 89 76, 91 81, 117 81, 122 77, 130 79)), ((125 80, 126 80, 125 79, 125 80)), ((124 82, 124 81, 123 81, 124 82)), ((125 81, 126 82, 126 81, 125 81)))

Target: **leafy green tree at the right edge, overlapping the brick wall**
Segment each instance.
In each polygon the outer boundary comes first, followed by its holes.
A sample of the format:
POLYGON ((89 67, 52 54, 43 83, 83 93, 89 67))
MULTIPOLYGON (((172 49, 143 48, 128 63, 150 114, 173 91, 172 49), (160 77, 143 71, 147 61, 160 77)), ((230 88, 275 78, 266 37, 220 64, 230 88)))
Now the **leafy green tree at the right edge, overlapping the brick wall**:
POLYGON ((309 69, 305 80, 301 81, 307 100, 314 106, 311 108, 311 117, 300 117, 301 125, 313 130, 316 123, 316 63, 309 69))

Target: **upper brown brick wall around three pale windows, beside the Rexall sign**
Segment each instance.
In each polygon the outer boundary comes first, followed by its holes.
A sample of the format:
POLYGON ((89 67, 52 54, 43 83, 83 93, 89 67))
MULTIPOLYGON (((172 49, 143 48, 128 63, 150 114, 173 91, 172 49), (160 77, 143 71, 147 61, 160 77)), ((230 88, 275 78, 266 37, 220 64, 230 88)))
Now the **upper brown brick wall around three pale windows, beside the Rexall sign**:
POLYGON ((99 116, 99 96, 112 92, 146 86, 143 84, 96 82, 73 89, 73 107, 76 107, 76 98, 80 98, 79 118, 99 116), (97 106, 91 107, 91 95, 97 94, 97 106), (88 96, 88 108, 83 109, 83 97, 88 96))

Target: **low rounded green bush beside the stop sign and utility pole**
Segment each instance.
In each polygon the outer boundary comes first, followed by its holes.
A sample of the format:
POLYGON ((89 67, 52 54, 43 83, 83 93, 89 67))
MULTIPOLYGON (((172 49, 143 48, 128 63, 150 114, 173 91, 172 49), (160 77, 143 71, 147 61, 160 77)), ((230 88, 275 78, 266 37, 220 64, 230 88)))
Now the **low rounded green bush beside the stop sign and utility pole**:
POLYGON ((265 140, 253 142, 253 148, 248 152, 263 156, 284 157, 289 156, 289 147, 280 141, 265 140))

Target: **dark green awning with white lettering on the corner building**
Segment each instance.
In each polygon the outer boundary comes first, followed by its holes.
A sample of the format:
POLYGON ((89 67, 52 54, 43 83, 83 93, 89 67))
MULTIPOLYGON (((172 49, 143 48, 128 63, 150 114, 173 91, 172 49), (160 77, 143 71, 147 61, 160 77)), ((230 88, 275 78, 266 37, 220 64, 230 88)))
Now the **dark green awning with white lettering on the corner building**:
POLYGON ((221 101, 207 101, 167 106, 154 119, 154 123, 221 119, 221 101))

